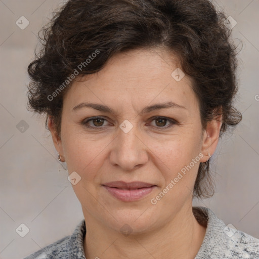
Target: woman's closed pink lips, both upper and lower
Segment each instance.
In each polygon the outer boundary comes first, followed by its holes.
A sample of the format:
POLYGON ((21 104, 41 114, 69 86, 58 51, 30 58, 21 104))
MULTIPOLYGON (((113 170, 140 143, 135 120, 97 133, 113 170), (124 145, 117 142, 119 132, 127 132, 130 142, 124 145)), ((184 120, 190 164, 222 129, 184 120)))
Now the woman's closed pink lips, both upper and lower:
POLYGON ((157 185, 145 182, 125 183, 122 181, 105 183, 102 185, 113 197, 124 201, 137 201, 150 194, 157 185))

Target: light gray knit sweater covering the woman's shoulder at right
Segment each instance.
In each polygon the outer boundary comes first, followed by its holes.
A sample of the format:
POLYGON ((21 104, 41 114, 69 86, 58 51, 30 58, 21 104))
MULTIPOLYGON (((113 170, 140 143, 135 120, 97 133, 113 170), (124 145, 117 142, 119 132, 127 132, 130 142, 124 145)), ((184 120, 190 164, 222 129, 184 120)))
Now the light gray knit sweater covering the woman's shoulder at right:
POLYGON ((209 208, 194 207, 207 218, 207 230, 195 259, 258 259, 259 239, 237 230, 233 225, 227 225, 209 208))

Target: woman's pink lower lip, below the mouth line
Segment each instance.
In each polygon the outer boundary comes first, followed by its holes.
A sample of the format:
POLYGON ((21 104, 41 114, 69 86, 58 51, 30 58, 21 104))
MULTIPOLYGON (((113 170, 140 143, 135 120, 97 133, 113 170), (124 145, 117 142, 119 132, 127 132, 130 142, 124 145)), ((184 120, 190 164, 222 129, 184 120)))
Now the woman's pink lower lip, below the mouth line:
POLYGON ((148 195, 149 193, 151 193, 156 188, 156 186, 151 186, 151 187, 141 188, 137 190, 122 190, 114 187, 108 187, 105 185, 103 185, 103 187, 105 187, 105 189, 115 198, 122 201, 139 200, 145 197, 146 195, 148 195))

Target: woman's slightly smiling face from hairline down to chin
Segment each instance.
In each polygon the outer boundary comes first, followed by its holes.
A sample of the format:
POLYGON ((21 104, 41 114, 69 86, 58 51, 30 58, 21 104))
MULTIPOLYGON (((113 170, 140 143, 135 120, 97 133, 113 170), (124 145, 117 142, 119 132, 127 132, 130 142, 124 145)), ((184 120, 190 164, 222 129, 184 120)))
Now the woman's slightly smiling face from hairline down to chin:
POLYGON ((202 130, 191 79, 177 68, 168 52, 134 50, 75 81, 64 96, 61 140, 52 133, 85 219, 144 233, 192 206, 199 162, 213 153, 219 126, 209 137, 202 130), (114 181, 153 187, 130 190, 114 181))

